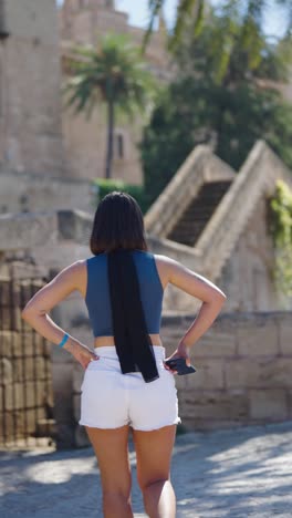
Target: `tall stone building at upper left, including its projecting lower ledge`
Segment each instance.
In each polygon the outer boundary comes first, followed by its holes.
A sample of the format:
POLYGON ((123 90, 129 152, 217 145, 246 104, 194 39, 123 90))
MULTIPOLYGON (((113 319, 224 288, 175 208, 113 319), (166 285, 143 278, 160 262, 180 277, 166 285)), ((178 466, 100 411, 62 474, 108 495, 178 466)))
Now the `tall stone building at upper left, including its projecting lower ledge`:
POLYGON ((55 0, 0 7, 0 214, 92 211, 91 183, 64 166, 55 0))

